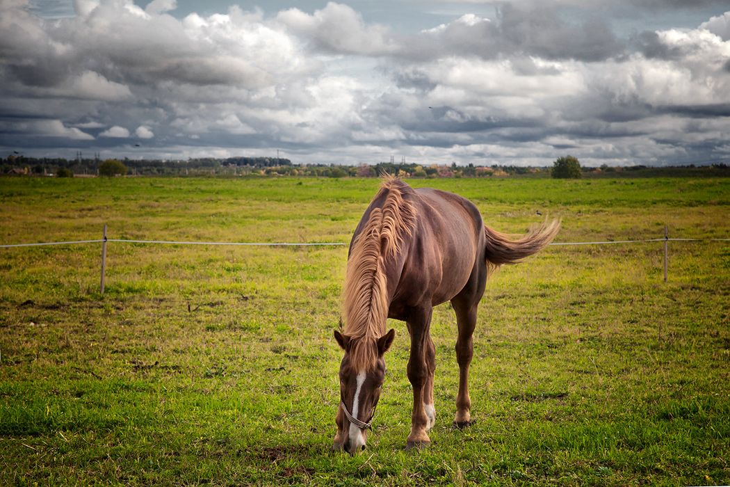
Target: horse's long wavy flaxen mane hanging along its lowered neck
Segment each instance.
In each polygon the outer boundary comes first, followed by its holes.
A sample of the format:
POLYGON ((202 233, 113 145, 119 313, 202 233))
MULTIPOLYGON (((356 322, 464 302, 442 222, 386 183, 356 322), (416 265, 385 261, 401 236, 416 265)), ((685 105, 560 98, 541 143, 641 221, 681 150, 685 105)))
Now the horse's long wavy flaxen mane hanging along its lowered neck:
POLYGON ((385 261, 401 251, 404 236, 415 225, 416 209, 404 199, 408 186, 391 175, 374 200, 385 194, 381 207, 373 208, 366 226, 355 238, 347 261, 342 292, 344 333, 350 337, 350 364, 368 370, 377 361, 377 339, 385 334, 388 318, 388 285, 385 261), (387 194, 386 194, 387 193, 387 194), (354 339, 354 340, 352 340, 354 339))

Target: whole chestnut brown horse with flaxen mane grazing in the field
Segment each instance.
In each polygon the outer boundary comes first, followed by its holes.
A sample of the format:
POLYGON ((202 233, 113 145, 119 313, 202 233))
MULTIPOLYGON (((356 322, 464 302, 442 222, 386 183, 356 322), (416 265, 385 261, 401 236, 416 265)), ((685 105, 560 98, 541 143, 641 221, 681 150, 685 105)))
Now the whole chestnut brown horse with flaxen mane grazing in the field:
POLYGON ((334 450, 358 453, 385 380, 385 353, 395 330, 387 318, 405 321, 410 334, 407 376, 413 388, 411 429, 406 448, 430 445, 436 421, 431 340, 434 306, 450 301, 456 312, 459 428, 471 424, 469 364, 477 307, 491 272, 544 249, 559 221, 546 220, 520 239, 484 225, 477 207, 462 196, 433 188, 413 189, 385 175, 380 191, 364 212, 347 253, 342 289, 342 332, 335 330, 345 356, 339 366, 339 407, 334 450), (342 324, 344 322, 344 324, 342 324))

